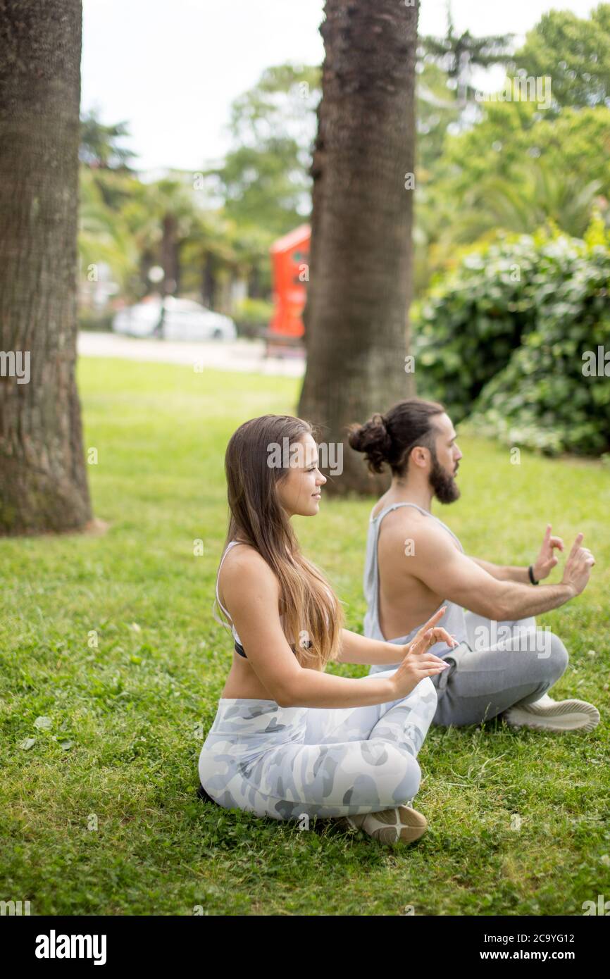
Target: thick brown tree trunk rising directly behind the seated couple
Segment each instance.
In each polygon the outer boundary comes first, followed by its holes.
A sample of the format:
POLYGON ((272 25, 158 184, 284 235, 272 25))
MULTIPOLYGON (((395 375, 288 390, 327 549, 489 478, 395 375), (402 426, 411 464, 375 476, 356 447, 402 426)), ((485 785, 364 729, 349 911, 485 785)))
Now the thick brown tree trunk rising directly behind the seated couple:
POLYGON ((326 0, 324 10, 299 414, 324 426, 321 442, 343 443, 343 475, 325 491, 378 492, 388 478, 367 475, 346 425, 414 394, 404 358, 418 8, 326 0))

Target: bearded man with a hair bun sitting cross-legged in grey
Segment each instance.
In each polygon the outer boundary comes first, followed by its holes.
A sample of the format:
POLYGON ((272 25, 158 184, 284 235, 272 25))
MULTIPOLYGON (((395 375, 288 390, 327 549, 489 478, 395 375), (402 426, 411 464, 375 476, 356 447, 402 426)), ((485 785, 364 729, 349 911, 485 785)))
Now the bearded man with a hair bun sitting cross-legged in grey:
MULTIPOLYGON (((586 588, 595 562, 582 545, 583 535, 576 537, 559 584, 539 585, 557 564, 553 551, 564 550, 550 525, 529 569, 467 556, 457 537, 430 512, 435 496, 450 503, 460 495, 455 474, 462 453, 439 402, 399 401, 385 416, 352 425, 349 441, 365 453, 372 471, 389 465, 393 476, 369 523, 364 634, 407 642, 446 606, 439 625, 460 643, 450 652, 440 644, 431 647, 450 663, 433 678, 439 697, 433 723, 480 723, 501 715, 512 726, 592 730, 599 723, 592 704, 548 696, 567 667, 568 654, 561 639, 538 629, 535 619, 586 588)), ((379 669, 389 668, 373 666, 369 674, 379 669)))

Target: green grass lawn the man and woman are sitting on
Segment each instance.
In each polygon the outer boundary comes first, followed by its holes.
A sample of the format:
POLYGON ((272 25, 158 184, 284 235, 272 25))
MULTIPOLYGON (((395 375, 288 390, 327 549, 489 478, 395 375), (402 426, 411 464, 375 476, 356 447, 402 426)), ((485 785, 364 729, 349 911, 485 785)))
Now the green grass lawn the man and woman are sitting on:
MULTIPOLYGON (((108 533, 0 541, 0 899, 33 914, 576 915, 610 899, 607 470, 527 452, 514 466, 507 449, 460 440, 462 497, 436 512, 467 552, 528 564, 547 521, 570 543, 585 533, 592 581, 540 624, 570 653, 553 695, 592 701, 602 721, 587 735, 432 727, 416 799, 430 828, 391 850, 195 795, 231 661, 211 616, 224 448, 246 418, 293 413, 298 382, 109 359, 81 361, 79 386, 108 533)), ((357 631, 372 504, 325 499, 297 527, 357 631)))

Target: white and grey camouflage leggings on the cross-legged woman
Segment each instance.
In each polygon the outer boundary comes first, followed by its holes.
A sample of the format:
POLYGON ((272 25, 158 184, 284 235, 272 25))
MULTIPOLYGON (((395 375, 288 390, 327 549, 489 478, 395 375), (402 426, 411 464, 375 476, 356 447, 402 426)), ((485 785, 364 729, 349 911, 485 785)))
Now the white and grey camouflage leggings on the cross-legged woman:
POLYGON ((436 709, 429 677, 408 696, 369 707, 221 697, 199 759, 201 783, 225 809, 274 819, 392 809, 419 789, 416 756, 436 709))

